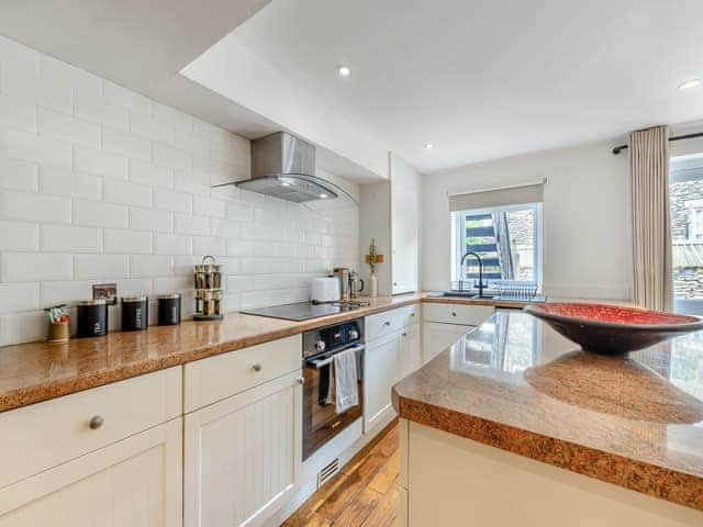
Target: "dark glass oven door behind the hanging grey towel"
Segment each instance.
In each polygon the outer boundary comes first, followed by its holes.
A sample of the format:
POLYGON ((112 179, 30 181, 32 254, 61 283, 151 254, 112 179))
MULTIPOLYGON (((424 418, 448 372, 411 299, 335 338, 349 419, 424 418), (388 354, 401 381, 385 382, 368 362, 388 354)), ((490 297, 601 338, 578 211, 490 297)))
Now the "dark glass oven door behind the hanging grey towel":
POLYGON ((335 351, 317 354, 303 360, 303 461, 320 447, 361 417, 364 407, 364 349, 362 344, 335 351), (356 351, 359 404, 337 414, 335 408, 332 362, 334 356, 348 349, 356 351))

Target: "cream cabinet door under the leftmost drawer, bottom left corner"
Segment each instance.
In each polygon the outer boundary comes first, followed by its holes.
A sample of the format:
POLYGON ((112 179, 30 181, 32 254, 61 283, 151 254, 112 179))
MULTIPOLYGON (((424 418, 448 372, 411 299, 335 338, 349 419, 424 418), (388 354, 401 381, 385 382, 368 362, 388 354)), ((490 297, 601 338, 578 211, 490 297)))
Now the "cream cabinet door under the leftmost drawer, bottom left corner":
POLYGON ((0 490, 0 527, 182 525, 182 421, 0 490))

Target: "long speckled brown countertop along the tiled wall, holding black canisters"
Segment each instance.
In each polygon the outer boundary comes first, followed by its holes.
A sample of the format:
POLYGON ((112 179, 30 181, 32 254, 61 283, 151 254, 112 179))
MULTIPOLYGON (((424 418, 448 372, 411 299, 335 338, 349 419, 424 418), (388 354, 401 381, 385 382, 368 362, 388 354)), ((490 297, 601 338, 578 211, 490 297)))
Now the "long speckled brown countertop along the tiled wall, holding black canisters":
POLYGON ((426 293, 368 299, 368 307, 305 322, 228 313, 222 322, 183 322, 146 332, 110 333, 67 344, 0 347, 0 412, 276 340, 417 302, 522 307, 524 302, 433 299, 426 293))

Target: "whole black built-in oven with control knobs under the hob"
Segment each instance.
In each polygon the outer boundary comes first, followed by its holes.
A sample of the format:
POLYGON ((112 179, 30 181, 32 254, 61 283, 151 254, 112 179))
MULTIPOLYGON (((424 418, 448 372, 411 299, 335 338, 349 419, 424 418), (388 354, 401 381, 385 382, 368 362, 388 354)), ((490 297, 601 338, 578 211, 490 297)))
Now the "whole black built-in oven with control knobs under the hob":
POLYGON ((361 417, 364 407, 364 321, 354 319, 303 334, 303 460, 361 417), (338 413, 335 404, 335 355, 356 358, 358 404, 338 413))

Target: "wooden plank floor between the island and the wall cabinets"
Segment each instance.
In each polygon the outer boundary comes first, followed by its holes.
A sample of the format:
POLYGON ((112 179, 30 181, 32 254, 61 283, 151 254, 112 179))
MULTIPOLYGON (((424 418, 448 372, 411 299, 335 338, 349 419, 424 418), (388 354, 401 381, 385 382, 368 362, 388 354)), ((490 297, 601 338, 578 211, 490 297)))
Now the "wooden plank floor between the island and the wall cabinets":
POLYGON ((398 508, 398 422, 286 520, 284 527, 390 527, 398 508))

